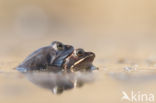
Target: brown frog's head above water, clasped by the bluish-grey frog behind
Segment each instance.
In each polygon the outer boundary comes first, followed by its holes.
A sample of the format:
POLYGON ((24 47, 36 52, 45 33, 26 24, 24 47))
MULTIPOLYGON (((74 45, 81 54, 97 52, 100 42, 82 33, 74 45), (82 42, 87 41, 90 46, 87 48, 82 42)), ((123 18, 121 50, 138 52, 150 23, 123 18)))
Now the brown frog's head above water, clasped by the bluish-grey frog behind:
POLYGON ((92 65, 95 58, 93 52, 85 52, 83 49, 75 49, 73 53, 66 58, 63 65, 64 69, 67 71, 90 71, 93 68, 97 69, 92 65))

